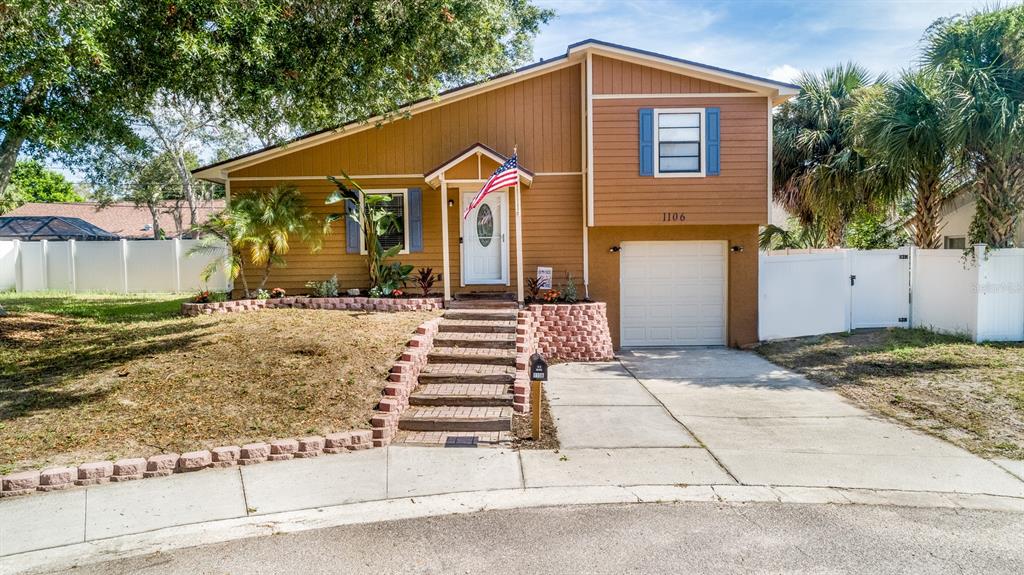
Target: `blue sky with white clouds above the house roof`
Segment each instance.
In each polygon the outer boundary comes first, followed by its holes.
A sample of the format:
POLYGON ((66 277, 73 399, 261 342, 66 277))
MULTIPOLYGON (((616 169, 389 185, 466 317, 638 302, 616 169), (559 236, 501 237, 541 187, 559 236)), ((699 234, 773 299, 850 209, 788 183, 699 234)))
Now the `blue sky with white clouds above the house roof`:
MULTIPOLYGON (((853 60, 874 74, 912 65, 936 18, 992 5, 971 0, 535 0, 556 17, 535 56, 594 38, 783 82, 853 60)), ((1002 2, 1008 5, 1008 2, 1002 2)))

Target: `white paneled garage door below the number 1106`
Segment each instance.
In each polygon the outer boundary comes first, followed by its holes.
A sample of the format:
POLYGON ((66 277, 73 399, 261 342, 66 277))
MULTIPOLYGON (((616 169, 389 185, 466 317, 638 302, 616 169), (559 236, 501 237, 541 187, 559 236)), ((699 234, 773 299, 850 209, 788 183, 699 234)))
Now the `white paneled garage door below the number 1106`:
POLYGON ((725 241, 624 241, 620 256, 623 347, 725 345, 725 241))

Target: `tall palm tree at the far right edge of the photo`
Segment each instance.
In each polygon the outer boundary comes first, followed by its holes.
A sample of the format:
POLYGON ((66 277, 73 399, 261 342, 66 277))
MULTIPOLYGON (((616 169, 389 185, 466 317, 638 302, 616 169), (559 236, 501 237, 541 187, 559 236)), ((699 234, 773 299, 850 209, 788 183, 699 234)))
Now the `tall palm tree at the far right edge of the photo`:
POLYGON ((937 20, 924 64, 942 79, 947 134, 976 176, 971 240, 1012 247, 1024 210, 1024 6, 937 20))

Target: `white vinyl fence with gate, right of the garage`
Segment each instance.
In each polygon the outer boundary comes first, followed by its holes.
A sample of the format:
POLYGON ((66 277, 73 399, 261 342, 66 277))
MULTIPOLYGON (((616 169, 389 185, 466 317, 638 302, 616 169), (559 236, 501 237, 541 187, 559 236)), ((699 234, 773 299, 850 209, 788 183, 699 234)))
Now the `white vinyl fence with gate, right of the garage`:
POLYGON ((762 340, 927 327, 1024 341, 1024 250, 820 250, 761 256, 762 340))

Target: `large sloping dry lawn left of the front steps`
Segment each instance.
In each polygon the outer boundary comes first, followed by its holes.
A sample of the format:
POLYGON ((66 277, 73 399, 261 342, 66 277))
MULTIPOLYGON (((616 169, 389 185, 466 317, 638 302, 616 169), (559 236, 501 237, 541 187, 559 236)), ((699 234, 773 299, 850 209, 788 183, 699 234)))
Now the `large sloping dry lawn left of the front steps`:
POLYGON ((185 318, 180 296, 0 294, 0 475, 368 428, 432 312, 185 318))

